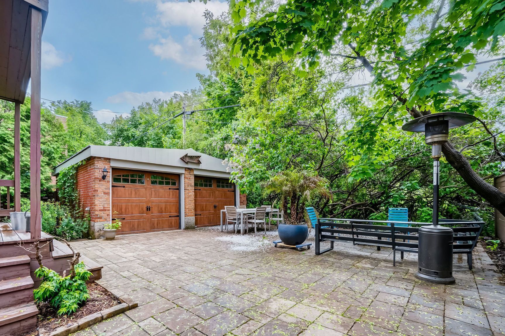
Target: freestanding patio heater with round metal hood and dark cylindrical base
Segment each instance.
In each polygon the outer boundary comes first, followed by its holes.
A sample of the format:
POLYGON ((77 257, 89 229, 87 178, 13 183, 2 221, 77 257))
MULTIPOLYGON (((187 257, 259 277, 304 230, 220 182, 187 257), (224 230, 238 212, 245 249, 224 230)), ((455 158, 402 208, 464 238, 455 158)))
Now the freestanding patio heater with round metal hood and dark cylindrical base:
POLYGON ((451 228, 438 225, 438 188, 440 182, 440 157, 442 144, 449 138, 449 129, 475 121, 473 115, 460 112, 428 114, 404 124, 401 128, 411 132, 424 132, 426 144, 431 145, 433 159, 433 224, 419 228, 418 271, 416 278, 435 284, 456 283, 452 276, 451 228))

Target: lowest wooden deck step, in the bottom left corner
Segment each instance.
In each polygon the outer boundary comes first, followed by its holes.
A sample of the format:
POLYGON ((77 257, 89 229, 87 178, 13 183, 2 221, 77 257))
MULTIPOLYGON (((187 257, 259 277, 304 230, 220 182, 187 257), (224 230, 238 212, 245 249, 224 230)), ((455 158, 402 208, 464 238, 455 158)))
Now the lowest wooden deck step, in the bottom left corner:
POLYGON ((33 302, 0 309, 0 335, 31 332, 37 325, 37 306, 33 302))

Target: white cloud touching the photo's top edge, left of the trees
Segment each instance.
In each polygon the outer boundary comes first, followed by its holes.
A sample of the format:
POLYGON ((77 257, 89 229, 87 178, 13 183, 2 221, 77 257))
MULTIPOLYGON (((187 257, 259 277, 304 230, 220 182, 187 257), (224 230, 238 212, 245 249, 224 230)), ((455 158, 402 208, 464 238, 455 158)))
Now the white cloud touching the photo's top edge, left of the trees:
POLYGON ((193 34, 200 35, 201 29, 205 25, 203 17, 206 9, 214 13, 215 16, 228 11, 227 2, 209 1, 207 4, 202 2, 158 2, 158 19, 164 27, 185 26, 193 34))

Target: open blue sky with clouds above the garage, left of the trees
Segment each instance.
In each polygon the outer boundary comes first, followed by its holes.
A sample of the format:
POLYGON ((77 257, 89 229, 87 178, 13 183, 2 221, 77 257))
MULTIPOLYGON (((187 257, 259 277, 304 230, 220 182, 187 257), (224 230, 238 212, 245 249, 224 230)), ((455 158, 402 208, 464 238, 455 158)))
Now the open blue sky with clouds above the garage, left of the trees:
MULTIPOLYGON (((153 98, 198 87, 205 50, 198 38, 208 8, 225 1, 51 0, 42 36, 42 92, 88 100, 97 110, 129 112, 153 98)), ((95 112, 100 122, 115 114, 95 112)))

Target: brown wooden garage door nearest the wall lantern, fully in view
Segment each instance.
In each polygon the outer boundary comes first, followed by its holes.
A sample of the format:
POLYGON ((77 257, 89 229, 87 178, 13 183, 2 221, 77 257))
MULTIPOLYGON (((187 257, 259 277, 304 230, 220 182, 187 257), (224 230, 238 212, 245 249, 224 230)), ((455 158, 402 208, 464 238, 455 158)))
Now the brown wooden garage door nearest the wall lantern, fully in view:
POLYGON ((179 175, 113 169, 113 218, 121 233, 179 228, 179 175))

